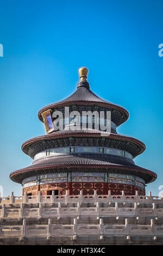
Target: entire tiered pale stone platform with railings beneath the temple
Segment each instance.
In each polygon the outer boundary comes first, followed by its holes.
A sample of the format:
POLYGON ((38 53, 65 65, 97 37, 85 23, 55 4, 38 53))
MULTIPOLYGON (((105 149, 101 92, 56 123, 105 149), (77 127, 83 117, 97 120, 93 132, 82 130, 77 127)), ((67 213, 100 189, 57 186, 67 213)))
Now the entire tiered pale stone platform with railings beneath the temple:
POLYGON ((163 197, 0 198, 0 245, 161 245, 163 197))

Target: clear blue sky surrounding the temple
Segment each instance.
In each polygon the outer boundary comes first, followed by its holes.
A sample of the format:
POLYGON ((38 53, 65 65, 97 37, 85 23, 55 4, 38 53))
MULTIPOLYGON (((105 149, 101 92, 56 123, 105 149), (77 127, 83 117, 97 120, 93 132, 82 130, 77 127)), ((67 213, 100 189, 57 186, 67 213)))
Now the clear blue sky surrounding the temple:
POLYGON ((163 2, 1 1, 1 169, 4 195, 21 195, 9 174, 32 163, 21 151, 43 135, 37 119, 43 106, 74 92, 80 66, 89 68, 94 93, 128 109, 118 128, 140 139, 146 151, 135 163, 158 179, 147 185, 158 195, 162 174, 163 2))

